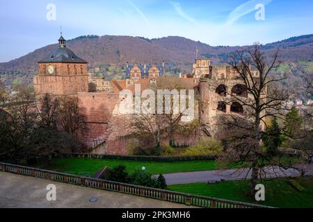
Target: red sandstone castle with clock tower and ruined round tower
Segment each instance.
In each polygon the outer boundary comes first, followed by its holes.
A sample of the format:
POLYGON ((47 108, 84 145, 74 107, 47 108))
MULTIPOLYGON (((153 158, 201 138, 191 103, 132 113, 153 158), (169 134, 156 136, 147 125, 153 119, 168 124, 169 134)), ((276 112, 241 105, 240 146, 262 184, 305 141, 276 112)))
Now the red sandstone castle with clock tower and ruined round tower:
MULTIPOLYGON (((193 144, 202 135, 215 136, 218 129, 218 117, 227 114, 245 115, 246 110, 231 101, 232 94, 250 99, 239 74, 227 66, 211 66, 210 60, 197 58, 192 74, 179 78, 166 78, 165 62, 161 65, 126 65, 125 80, 106 81, 88 76, 85 60, 67 49, 65 39, 60 37, 58 49, 38 62, 38 76, 33 78, 35 94, 54 94, 56 96, 74 95, 79 98, 82 112, 86 115, 88 131, 81 137, 94 153, 127 154, 127 144, 132 116, 120 114, 119 93, 123 89, 135 90, 135 84, 141 85, 141 91, 152 85, 166 83, 169 80, 179 83, 184 89, 198 89, 199 99, 195 105, 195 118, 201 128, 193 135, 177 136, 184 144, 193 144), (89 84, 89 88, 88 88, 89 84), (93 85, 92 89, 90 85, 93 85)), ((258 78, 257 71, 253 72, 258 78)))

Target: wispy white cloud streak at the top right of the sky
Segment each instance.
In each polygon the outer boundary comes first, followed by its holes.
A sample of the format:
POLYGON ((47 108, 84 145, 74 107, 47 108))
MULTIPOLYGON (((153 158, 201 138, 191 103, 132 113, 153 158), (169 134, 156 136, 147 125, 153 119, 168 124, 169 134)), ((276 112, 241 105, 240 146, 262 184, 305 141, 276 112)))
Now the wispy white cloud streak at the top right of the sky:
POLYGON ((230 12, 230 15, 228 15, 226 24, 232 24, 240 17, 243 17, 243 15, 247 15, 248 13, 254 11, 257 4, 262 3, 265 6, 268 3, 271 3, 271 1, 273 0, 250 0, 240 6, 237 6, 232 12, 230 12))

